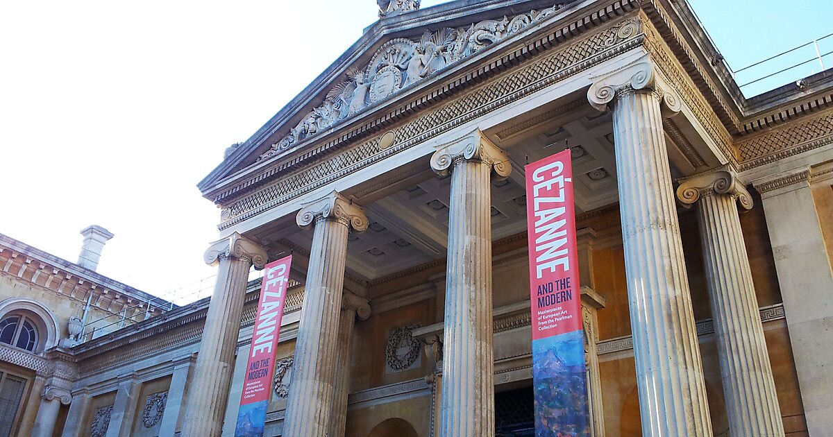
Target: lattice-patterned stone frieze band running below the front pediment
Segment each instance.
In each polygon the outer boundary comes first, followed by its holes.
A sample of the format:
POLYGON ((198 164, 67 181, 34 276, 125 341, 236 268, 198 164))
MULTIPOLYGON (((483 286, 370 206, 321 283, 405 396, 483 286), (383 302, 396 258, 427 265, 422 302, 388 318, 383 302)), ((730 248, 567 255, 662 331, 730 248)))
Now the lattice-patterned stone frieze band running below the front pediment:
POLYGON ((639 28, 638 19, 626 18, 576 41, 570 47, 553 52, 537 62, 531 62, 510 75, 477 87, 443 107, 413 117, 392 129, 395 136, 394 146, 385 150, 380 147, 379 138, 372 138, 326 161, 290 173, 259 191, 224 206, 221 211, 222 223, 218 227, 226 229, 233 226, 272 206, 302 196, 362 167, 382 161, 498 107, 549 87, 608 57, 615 57, 621 52, 637 47, 644 40, 639 28))

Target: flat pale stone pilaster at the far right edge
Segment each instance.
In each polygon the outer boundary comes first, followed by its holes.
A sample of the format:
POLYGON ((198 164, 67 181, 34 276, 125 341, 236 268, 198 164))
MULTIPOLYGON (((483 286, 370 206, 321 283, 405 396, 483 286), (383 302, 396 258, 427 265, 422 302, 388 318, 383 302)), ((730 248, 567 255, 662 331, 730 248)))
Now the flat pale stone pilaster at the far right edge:
POLYGON ((833 430, 833 266, 822 227, 830 214, 813 193, 814 186, 830 190, 833 174, 814 173, 801 166, 753 182, 761 193, 801 404, 813 437, 833 430))

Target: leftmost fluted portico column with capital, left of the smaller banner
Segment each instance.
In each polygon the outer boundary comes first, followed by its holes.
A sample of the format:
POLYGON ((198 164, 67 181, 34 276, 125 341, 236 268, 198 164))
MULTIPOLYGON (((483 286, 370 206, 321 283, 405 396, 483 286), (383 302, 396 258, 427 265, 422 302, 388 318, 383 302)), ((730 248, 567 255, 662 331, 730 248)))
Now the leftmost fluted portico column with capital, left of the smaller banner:
POLYGON ((205 261, 212 266, 219 264, 220 268, 202 329, 182 437, 220 435, 249 269, 252 264, 262 268, 267 253, 262 246, 235 232, 213 243, 206 251, 205 261))

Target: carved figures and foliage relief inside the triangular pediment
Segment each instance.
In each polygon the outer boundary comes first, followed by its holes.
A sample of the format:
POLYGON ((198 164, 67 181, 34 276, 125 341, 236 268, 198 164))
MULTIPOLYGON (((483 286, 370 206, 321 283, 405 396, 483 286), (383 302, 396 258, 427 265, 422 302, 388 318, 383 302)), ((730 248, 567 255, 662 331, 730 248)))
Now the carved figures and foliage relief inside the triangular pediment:
MULTIPOLYGON (((388 2, 399 4, 395 1, 388 2)), ((381 5, 380 5, 381 6, 381 5)), ((347 71, 347 81, 327 92, 290 132, 259 156, 258 161, 286 151, 327 131, 344 119, 382 102, 416 82, 441 72, 482 49, 521 32, 559 11, 558 4, 500 20, 484 20, 467 27, 426 30, 419 39, 395 38, 382 44, 365 66, 347 71)))

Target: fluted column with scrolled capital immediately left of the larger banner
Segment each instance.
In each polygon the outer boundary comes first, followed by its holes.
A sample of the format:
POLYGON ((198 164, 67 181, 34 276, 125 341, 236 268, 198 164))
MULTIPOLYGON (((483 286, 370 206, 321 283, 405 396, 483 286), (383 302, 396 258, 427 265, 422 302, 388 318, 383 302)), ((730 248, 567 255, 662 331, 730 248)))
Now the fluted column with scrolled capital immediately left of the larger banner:
POLYGON ((495 435, 490 182, 511 166, 477 130, 440 146, 431 169, 451 173, 440 435, 495 435))

